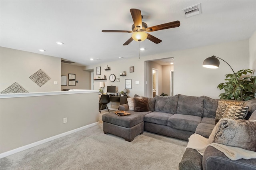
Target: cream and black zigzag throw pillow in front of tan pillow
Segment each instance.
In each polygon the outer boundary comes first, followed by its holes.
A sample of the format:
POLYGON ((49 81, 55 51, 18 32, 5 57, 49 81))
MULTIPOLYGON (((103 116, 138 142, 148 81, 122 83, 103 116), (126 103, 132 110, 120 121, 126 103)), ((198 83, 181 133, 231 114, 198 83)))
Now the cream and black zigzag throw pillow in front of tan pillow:
POLYGON ((228 105, 224 112, 223 118, 244 119, 248 113, 248 106, 228 105))

